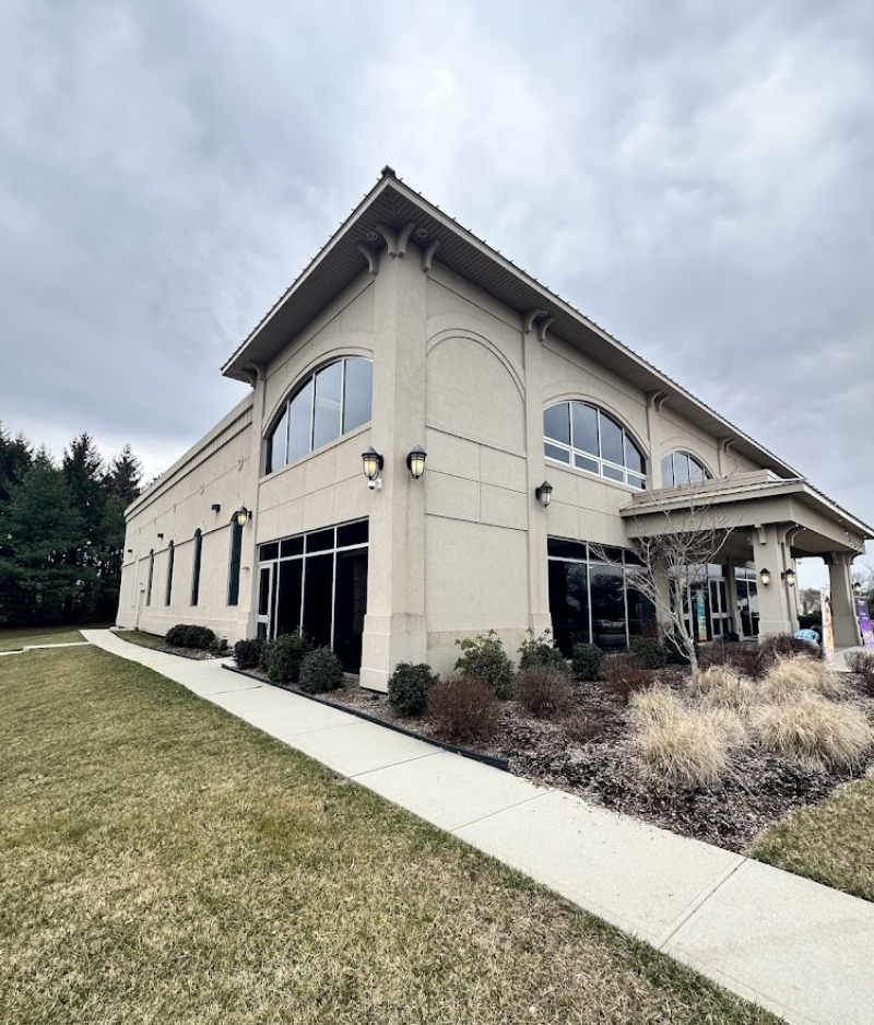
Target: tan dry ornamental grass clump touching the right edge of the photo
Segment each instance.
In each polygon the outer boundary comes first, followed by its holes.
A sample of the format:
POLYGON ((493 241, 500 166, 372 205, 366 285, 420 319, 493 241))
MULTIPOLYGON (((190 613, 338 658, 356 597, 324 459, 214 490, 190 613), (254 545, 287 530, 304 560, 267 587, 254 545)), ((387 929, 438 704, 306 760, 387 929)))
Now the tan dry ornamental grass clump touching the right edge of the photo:
POLYGON ((766 747, 814 769, 855 768, 874 744, 874 730, 862 711, 811 692, 761 705, 753 723, 766 747))

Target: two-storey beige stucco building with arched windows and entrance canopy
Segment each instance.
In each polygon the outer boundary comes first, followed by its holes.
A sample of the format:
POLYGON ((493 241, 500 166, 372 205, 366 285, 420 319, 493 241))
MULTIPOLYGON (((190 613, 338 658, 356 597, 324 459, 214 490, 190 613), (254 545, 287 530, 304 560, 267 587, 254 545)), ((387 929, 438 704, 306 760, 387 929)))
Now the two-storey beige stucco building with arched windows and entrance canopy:
POLYGON ((783 574, 820 555, 858 643, 871 529, 391 168, 223 373, 249 393, 127 511, 121 626, 303 627, 378 690, 491 628, 510 652, 529 628, 624 646, 650 612, 616 561, 692 481, 733 526, 696 597, 709 637, 795 629, 783 574))

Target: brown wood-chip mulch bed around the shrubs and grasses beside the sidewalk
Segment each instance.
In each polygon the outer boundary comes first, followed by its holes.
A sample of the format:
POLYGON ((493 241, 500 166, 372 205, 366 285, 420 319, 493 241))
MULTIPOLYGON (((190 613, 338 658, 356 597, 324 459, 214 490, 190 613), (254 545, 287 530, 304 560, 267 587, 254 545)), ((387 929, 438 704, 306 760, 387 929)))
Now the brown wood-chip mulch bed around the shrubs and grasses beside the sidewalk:
MULTIPOLYGON (((262 673, 253 673, 267 679, 262 673)), ((682 687, 684 673, 659 670, 660 683, 682 687)), ((867 697, 861 678, 841 674, 848 684, 847 702, 861 708, 874 723, 874 698, 867 697)), ((319 695, 409 730, 447 740, 426 718, 404 718, 385 694, 365 691, 357 678, 319 695)), ((592 804, 633 815, 682 836, 743 852, 765 826, 787 812, 823 801, 840 784, 865 775, 814 771, 787 762, 757 745, 739 753, 722 787, 716 790, 670 787, 646 777, 638 766, 628 728, 627 708, 603 683, 574 684, 571 712, 583 712, 600 727, 600 735, 587 743, 569 740, 560 720, 534 719, 516 702, 503 703, 498 732, 488 741, 471 743, 484 754, 507 758, 510 771, 534 782, 566 790, 592 804)))

